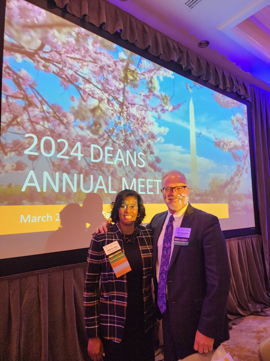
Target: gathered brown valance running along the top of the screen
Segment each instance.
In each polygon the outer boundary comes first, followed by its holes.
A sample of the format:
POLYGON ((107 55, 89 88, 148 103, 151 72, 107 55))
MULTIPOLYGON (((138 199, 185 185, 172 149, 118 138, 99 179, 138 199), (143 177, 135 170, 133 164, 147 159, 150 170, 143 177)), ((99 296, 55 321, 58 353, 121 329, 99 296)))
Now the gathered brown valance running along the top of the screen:
POLYGON ((184 70, 210 84, 250 98, 249 83, 222 69, 184 45, 162 34, 107 0, 55 0, 59 8, 113 34, 120 30, 121 38, 165 61, 175 60, 184 70))

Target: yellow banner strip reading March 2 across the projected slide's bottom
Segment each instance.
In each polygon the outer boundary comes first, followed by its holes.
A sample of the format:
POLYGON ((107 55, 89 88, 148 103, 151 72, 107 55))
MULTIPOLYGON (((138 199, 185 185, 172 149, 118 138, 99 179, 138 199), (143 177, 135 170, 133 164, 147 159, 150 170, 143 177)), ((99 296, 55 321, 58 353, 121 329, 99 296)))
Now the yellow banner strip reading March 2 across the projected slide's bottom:
MULTIPOLYGON (((207 213, 215 214, 218 218, 229 218, 227 203, 193 203, 192 205, 207 213)), ((144 204, 144 206, 146 211, 144 223, 149 223, 155 214, 167 210, 164 203, 144 204)), ((59 212, 64 207, 64 204, 0 206, 0 235, 55 231, 60 227, 59 212)), ((109 218, 110 210, 109 204, 103 204, 105 218, 109 218)))

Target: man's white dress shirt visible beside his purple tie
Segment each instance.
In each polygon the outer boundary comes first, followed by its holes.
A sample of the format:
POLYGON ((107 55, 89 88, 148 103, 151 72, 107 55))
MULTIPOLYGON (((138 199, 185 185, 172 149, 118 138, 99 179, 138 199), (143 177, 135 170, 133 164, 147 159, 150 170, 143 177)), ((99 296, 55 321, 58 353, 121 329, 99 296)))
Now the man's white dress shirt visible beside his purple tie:
MULTIPOLYGON (((187 207, 188 207, 188 205, 186 205, 184 208, 180 209, 179 212, 176 212, 176 213, 173 214, 173 216, 174 216, 174 221, 172 222, 172 225, 173 225, 173 227, 174 227, 174 230, 173 230, 173 232, 172 232, 172 243, 171 243, 170 261, 171 261, 172 251, 173 251, 173 249, 174 249, 173 239, 174 239, 175 231, 176 231, 176 228, 177 228, 177 227, 180 227, 180 226, 181 226, 182 219, 183 219, 183 217, 184 217, 184 213, 185 213, 187 207)), ((158 280, 158 277, 159 277, 159 265, 160 265, 161 254, 162 254, 163 238, 164 238, 165 229, 166 229, 166 226, 167 226, 167 223, 168 223, 168 221, 169 221, 170 216, 171 216, 171 212, 168 210, 167 217, 166 217, 166 219, 165 219, 164 225, 163 225, 163 227, 162 227, 162 231, 161 231, 161 233, 160 233, 160 235, 159 235, 159 238, 158 238, 158 244, 157 244, 158 256, 157 256, 157 262, 156 262, 157 280, 158 280)))

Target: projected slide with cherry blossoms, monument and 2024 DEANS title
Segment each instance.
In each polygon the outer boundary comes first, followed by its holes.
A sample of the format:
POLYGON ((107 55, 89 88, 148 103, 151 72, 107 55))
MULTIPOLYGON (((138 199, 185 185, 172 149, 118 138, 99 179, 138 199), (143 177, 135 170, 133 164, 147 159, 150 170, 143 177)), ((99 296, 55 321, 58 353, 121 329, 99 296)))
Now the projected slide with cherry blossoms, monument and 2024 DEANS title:
POLYGON ((254 227, 247 106, 24 0, 7 0, 0 258, 89 246, 116 193, 166 210, 162 172, 222 230, 254 227))

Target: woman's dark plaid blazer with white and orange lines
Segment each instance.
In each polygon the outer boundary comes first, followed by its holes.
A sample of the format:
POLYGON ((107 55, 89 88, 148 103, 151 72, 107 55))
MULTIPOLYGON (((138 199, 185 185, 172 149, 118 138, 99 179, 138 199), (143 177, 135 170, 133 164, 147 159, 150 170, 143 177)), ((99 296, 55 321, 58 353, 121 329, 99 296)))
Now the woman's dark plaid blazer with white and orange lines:
MULTIPOLYGON (((138 243, 143 262, 143 301, 145 332, 154 324, 154 303, 151 282, 153 277, 153 233, 137 226, 138 243)), ((84 288, 85 327, 88 338, 103 336, 120 342, 125 326, 127 306, 126 274, 116 277, 104 245, 118 241, 123 249, 121 230, 116 223, 105 234, 94 234, 87 256, 84 288)))

